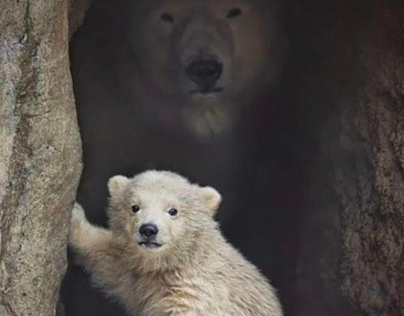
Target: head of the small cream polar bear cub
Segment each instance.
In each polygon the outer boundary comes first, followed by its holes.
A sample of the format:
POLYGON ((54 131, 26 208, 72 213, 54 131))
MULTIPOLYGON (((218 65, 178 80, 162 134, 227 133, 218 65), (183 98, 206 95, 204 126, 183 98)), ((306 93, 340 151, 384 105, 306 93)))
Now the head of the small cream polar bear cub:
POLYGON ((108 182, 113 233, 127 247, 148 257, 192 251, 197 236, 215 229, 221 196, 167 171, 146 171, 108 182))

